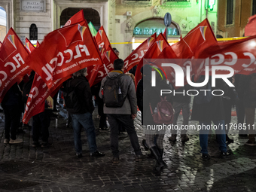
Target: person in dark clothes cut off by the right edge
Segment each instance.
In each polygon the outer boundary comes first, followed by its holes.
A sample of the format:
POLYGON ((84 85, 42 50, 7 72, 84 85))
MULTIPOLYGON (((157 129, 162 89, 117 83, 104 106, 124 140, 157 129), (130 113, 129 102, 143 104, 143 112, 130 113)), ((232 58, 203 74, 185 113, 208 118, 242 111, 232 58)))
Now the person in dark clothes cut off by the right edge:
POLYGON ((245 145, 256 146, 254 130, 254 115, 256 108, 256 73, 251 75, 241 75, 237 92, 245 107, 245 120, 246 125, 248 126, 248 141, 245 142, 245 145))

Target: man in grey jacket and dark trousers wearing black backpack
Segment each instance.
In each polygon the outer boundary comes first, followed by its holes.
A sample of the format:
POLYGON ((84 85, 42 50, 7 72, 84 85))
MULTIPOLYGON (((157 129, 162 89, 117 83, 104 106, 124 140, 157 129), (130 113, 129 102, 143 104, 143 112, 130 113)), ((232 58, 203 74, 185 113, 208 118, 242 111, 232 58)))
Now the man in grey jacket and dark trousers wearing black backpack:
POLYGON ((133 124, 137 115, 136 90, 133 79, 123 74, 123 59, 114 60, 114 70, 102 79, 99 97, 104 101, 104 113, 110 124, 110 142, 113 163, 119 163, 118 125, 126 129, 136 154, 136 161, 142 160, 142 151, 133 124))

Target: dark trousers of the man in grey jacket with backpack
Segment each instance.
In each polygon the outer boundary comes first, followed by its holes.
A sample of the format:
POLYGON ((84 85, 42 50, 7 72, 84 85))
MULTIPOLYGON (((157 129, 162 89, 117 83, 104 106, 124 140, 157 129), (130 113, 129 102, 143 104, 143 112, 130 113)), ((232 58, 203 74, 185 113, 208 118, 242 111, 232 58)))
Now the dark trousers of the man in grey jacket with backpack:
POLYGON ((118 150, 118 125, 120 124, 123 128, 126 129, 130 142, 133 146, 134 152, 136 155, 142 154, 142 151, 139 147, 138 136, 133 124, 133 119, 130 114, 107 114, 108 123, 110 125, 110 144, 111 151, 114 157, 119 157, 118 150))

